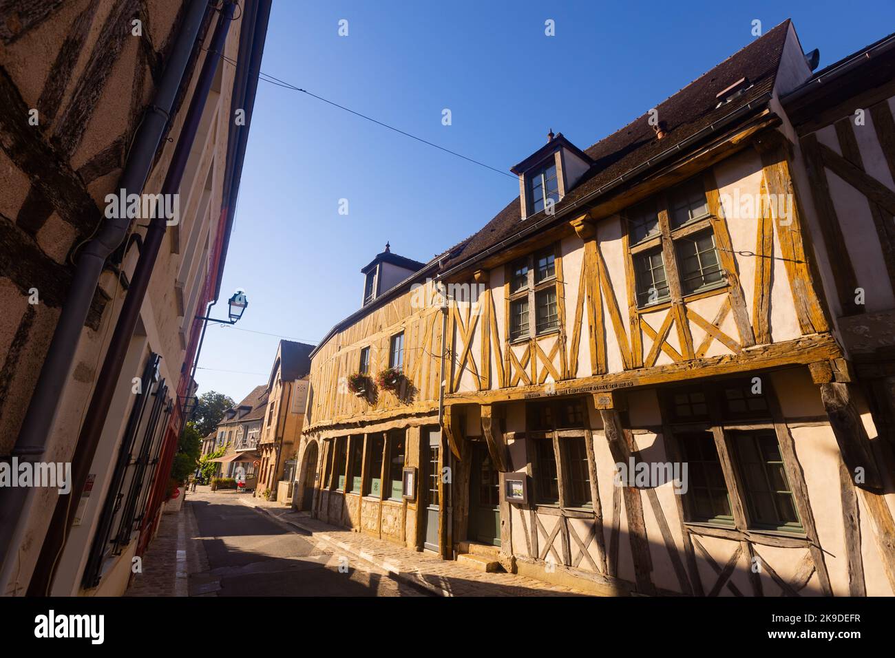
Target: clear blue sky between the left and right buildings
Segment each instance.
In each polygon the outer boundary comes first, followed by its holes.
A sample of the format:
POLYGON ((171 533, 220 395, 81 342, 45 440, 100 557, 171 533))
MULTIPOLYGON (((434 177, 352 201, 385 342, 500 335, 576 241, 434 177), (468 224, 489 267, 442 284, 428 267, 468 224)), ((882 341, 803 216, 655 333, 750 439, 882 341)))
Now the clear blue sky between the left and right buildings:
MULTIPOLYGON (((261 70, 508 173, 550 128, 587 148, 746 46, 754 19, 767 31, 787 18, 823 67, 885 36, 895 3, 275 0, 261 70)), ((320 340, 360 306, 360 269, 386 241, 428 261, 518 190, 260 82, 216 315, 237 287, 249 308, 233 328, 209 326, 200 392, 238 401, 267 380, 278 338, 265 334, 320 340)))

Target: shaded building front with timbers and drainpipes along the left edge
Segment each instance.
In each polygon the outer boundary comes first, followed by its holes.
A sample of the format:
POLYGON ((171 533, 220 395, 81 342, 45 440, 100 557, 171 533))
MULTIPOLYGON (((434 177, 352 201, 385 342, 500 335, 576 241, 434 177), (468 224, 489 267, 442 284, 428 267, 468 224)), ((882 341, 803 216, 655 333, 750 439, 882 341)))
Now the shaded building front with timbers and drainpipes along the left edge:
POLYGON ((122 594, 156 532, 269 8, 0 9, 0 456, 72 468, 0 497, 5 595, 122 594))

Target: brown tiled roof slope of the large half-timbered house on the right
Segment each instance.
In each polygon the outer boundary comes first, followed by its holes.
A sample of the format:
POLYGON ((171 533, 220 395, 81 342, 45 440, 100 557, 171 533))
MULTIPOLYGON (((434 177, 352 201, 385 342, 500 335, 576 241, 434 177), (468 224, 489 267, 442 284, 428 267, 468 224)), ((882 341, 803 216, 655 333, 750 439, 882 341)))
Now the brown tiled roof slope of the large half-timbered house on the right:
MULTIPOLYGON (((575 201, 615 180, 619 175, 656 157, 662 151, 711 126, 721 117, 739 107, 746 107, 756 98, 771 91, 786 42, 789 22, 789 20, 783 21, 763 37, 755 39, 735 55, 656 106, 658 118, 667 132, 663 139, 656 139, 652 126, 647 121, 649 113, 646 113, 585 149, 584 153, 592 158, 594 164, 575 188, 556 204, 556 213, 561 213, 575 201), (716 94, 743 77, 752 82, 753 86, 735 100, 716 108, 718 105, 716 94)), ((541 212, 533 218, 527 218, 525 222, 521 221, 522 209, 519 198, 516 197, 463 245, 462 250, 447 262, 447 267, 485 251, 542 217, 541 212)))

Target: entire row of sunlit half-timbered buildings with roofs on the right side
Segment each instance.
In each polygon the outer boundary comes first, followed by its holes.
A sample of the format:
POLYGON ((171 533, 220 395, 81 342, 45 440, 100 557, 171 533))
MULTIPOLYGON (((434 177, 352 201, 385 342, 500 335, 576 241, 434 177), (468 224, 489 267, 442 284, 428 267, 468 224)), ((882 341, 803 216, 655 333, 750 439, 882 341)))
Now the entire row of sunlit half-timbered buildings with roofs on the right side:
POLYGON ((294 507, 601 594, 895 593, 893 45, 815 72, 786 21, 365 268, 294 507))

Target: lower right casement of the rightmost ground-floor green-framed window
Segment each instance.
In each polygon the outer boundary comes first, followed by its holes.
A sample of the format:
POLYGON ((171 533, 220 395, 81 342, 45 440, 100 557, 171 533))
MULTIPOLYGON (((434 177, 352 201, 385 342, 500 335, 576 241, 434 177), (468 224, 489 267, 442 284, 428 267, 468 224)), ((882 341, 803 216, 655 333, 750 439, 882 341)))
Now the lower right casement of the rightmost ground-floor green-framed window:
POLYGON ((804 532, 777 435, 771 430, 731 433, 737 447, 750 526, 804 532))

